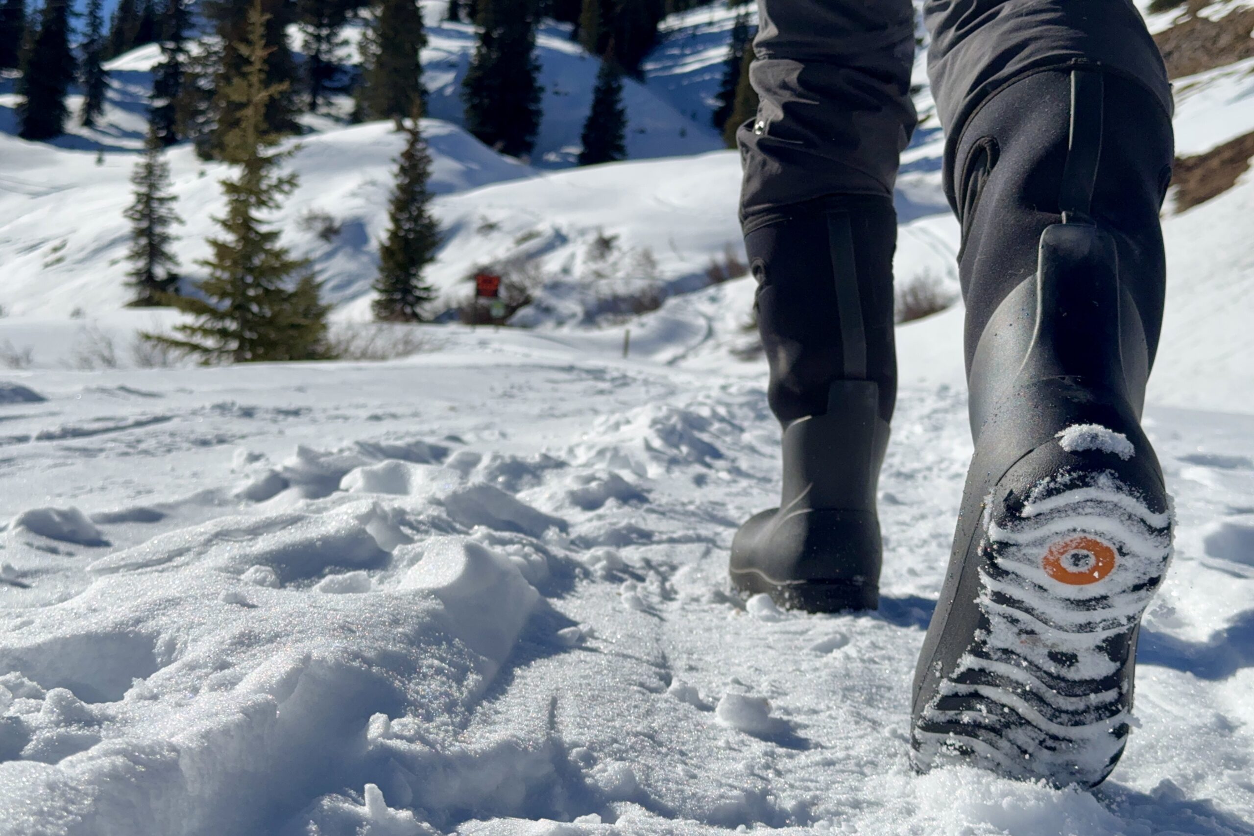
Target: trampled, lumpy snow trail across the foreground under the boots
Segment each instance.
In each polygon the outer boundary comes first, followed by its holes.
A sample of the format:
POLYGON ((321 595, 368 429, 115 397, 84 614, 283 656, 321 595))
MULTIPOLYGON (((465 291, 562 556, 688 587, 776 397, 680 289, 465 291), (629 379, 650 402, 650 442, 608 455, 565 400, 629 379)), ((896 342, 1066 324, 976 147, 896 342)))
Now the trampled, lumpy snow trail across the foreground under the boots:
POLYGON ((672 365, 445 333, 10 376, 0 832, 1254 833, 1254 417, 1150 410, 1181 526, 1140 727, 1060 792, 908 767, 957 389, 903 391, 880 612, 800 615, 727 592, 779 435, 721 332, 672 365))

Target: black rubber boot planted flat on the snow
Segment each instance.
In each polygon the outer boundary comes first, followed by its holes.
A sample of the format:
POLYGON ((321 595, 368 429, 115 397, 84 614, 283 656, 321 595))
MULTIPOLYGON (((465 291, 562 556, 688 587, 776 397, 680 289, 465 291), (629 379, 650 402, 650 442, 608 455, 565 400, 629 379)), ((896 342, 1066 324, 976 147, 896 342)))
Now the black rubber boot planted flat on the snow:
POLYGON ((793 609, 874 609, 875 491, 897 397, 897 214, 888 198, 831 198, 759 219, 746 246, 784 490, 736 534, 732 584, 793 609))

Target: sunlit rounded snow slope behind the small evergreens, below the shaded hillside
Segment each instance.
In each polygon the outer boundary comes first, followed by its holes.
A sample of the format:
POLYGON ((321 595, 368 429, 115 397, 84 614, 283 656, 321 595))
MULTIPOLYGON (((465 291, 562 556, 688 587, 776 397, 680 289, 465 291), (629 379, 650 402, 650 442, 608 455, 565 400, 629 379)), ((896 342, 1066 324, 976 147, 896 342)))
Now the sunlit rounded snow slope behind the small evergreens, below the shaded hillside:
MULTIPOLYGON (((741 248, 735 152, 638 160, 542 173, 495 154, 460 128, 429 119, 435 212, 445 243, 431 283, 454 305, 465 278, 489 262, 528 261, 544 311, 538 320, 583 318, 597 300, 657 285, 691 291, 705 283, 711 259, 741 248), (614 246, 589 257, 606 237, 614 246), (643 263, 646 251, 650 258, 643 263), (597 263, 591 263, 597 262, 597 263)), ((369 316, 377 241, 386 231, 393 159, 401 137, 375 123, 311 134, 291 170, 300 188, 276 221, 283 241, 312 259, 344 316, 369 316), (326 234, 330 222, 331 232, 326 234)), ((169 152, 178 211, 187 222, 177 252, 194 280, 197 259, 223 198, 224 165, 204 163, 188 147, 169 152)), ((0 305, 10 316, 66 317, 75 308, 103 316, 122 307, 129 247, 122 217, 130 203, 134 157, 25 143, 0 134, 0 305)), ((953 273, 956 224, 934 174, 903 183, 899 274, 953 273)))

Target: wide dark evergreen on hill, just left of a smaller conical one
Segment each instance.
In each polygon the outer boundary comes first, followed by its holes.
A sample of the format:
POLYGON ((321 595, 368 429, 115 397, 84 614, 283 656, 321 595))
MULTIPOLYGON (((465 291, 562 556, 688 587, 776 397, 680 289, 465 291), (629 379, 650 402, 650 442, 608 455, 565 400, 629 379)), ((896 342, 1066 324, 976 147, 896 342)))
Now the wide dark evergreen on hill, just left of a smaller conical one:
POLYGON ((535 16, 528 0, 480 0, 479 44, 461 83, 466 129, 512 157, 530 153, 540 125, 535 16))

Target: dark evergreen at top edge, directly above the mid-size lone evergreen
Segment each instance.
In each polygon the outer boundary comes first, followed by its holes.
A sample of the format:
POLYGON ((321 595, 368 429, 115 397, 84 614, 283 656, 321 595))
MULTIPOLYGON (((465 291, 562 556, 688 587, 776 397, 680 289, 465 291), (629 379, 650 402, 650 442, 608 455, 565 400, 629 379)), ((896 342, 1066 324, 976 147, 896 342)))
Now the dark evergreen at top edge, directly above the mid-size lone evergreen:
POLYGON ((425 103, 424 46, 426 31, 418 3, 381 0, 375 10, 374 25, 361 39, 362 73, 357 99, 364 118, 399 123, 409 115, 415 97, 425 103))

